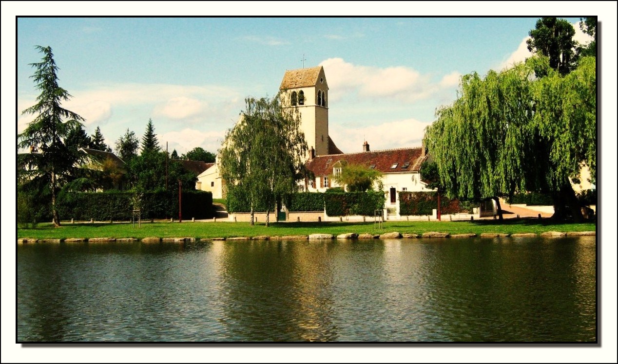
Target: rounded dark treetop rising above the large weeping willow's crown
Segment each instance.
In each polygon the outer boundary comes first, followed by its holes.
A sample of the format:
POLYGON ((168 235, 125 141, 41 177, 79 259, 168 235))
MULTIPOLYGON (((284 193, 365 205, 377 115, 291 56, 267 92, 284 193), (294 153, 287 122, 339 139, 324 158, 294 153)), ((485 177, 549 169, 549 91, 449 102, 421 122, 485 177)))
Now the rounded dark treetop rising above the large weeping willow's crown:
MULTIPOLYGON (((561 75, 566 75, 575 67, 575 47, 577 42, 573 39, 575 29, 571 23, 564 19, 546 17, 537 20, 536 28, 530 30, 531 39, 527 40, 528 51, 537 52, 548 57, 549 67, 561 75)), ((546 73, 536 73, 537 77, 543 77, 546 73)))

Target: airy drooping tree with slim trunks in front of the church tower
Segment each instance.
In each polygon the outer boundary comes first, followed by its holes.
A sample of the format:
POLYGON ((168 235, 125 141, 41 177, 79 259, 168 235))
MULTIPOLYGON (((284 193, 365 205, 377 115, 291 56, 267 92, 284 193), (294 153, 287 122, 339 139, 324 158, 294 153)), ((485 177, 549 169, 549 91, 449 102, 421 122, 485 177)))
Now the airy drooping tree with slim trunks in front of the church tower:
POLYGON ((245 99, 245 110, 229 130, 220 154, 221 177, 228 189, 247 197, 251 223, 255 207, 266 208, 266 226, 276 201, 297 190, 302 178, 305 136, 296 109, 282 109, 281 94, 245 99))

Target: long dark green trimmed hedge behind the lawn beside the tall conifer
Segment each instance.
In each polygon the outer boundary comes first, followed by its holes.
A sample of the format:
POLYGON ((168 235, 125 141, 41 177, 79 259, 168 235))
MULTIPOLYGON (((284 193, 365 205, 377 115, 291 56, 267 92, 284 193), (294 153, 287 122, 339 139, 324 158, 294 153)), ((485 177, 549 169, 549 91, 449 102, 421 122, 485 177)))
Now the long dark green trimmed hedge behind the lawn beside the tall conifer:
MULTIPOLYGON (((139 205, 143 219, 178 216, 178 194, 168 191, 145 192, 71 192, 58 200, 62 219, 98 221, 129 221, 133 206, 139 205)), ((213 194, 206 191, 182 192, 182 216, 185 218, 213 217, 213 194)))

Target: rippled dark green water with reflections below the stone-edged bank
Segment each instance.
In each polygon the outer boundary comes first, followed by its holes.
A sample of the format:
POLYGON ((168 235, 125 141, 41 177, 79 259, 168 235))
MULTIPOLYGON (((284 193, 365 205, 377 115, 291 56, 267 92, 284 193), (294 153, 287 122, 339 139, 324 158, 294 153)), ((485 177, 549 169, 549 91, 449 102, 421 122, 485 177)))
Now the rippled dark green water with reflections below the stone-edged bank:
POLYGON ((595 237, 25 244, 17 341, 595 342, 595 237))

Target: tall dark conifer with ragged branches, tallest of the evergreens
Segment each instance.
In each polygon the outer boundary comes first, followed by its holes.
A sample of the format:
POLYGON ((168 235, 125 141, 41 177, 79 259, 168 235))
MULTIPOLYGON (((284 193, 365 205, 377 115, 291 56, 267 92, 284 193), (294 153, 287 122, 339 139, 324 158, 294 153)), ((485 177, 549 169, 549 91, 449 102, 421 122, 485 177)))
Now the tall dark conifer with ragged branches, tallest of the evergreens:
POLYGON ((27 177, 22 175, 20 179, 37 186, 43 186, 45 183, 49 185, 51 213, 54 225, 59 226, 60 217, 56 209, 57 189, 70 178, 70 171, 75 164, 75 154, 64 144, 63 139, 72 130, 82 126, 80 122, 83 118, 61 105, 71 96, 58 86, 58 67, 51 48, 36 46, 36 49, 43 53, 43 59, 41 62, 31 64, 35 68, 32 78, 35 80, 36 89, 41 93, 36 97, 37 103, 22 112, 36 117, 28 123, 23 133, 17 135, 17 147, 32 148, 31 151, 38 151, 41 154, 30 157, 27 163, 33 168, 24 171, 23 175, 27 177), (40 180, 44 183, 40 183, 40 180))

